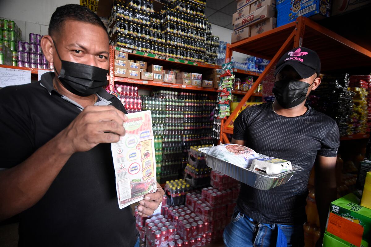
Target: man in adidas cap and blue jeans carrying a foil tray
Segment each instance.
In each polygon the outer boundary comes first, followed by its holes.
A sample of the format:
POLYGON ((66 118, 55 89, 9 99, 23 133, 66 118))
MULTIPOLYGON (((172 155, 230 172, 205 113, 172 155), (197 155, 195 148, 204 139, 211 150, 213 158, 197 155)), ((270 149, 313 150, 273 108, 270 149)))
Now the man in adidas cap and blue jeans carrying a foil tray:
MULTIPOLYGON (((329 204, 336 199, 339 129, 334 119, 305 105, 309 93, 321 84, 320 70, 321 61, 313 50, 298 47, 286 52, 276 65, 276 100, 246 108, 234 121, 233 143, 289 160, 304 170, 271 190, 242 184, 232 221, 223 234, 227 247, 304 246, 307 185, 313 164, 323 236, 329 204)), ((317 246, 321 244, 322 238, 317 246)))

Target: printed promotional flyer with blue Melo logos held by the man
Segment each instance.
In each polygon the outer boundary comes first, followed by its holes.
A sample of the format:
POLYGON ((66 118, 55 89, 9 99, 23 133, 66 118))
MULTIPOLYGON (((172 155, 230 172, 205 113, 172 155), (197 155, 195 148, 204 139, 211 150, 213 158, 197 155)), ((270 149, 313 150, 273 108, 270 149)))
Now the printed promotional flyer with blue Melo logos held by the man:
POLYGON ((125 136, 111 144, 120 209, 157 190, 151 111, 129 113, 126 116, 125 136))

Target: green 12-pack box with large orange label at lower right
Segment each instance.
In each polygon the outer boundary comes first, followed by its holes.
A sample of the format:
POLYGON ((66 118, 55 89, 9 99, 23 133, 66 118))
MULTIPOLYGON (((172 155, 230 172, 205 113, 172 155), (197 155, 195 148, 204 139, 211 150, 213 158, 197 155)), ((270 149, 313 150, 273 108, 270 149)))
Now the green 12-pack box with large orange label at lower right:
POLYGON ((330 204, 326 234, 348 246, 370 246, 371 209, 359 205, 357 194, 349 193, 330 204))

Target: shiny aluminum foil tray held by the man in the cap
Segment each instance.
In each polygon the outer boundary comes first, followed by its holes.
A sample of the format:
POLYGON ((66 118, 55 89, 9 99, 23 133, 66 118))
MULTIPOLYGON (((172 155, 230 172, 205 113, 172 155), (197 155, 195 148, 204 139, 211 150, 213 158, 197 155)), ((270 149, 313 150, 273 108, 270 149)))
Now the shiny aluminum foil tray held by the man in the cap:
POLYGON ((222 172, 229 177, 232 177, 259 190, 270 190, 279 185, 286 184, 288 181, 290 181, 290 178, 294 172, 303 170, 303 168, 299 167, 298 165, 292 165, 291 171, 283 172, 278 175, 267 175, 264 172, 251 171, 249 169, 238 167, 224 160, 213 157, 208 154, 210 149, 211 147, 198 149, 198 151, 205 154, 206 164, 208 167, 222 172))

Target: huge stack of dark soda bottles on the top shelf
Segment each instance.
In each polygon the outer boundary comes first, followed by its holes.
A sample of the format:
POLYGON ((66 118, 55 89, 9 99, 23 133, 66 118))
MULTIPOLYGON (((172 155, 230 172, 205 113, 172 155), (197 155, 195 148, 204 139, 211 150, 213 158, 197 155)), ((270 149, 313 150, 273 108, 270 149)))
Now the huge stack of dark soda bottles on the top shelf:
POLYGON ((167 1, 154 12, 152 1, 114 1, 108 18, 111 45, 159 56, 217 63, 219 37, 211 35, 206 1, 167 1), (125 3, 126 2, 126 3, 125 3))

